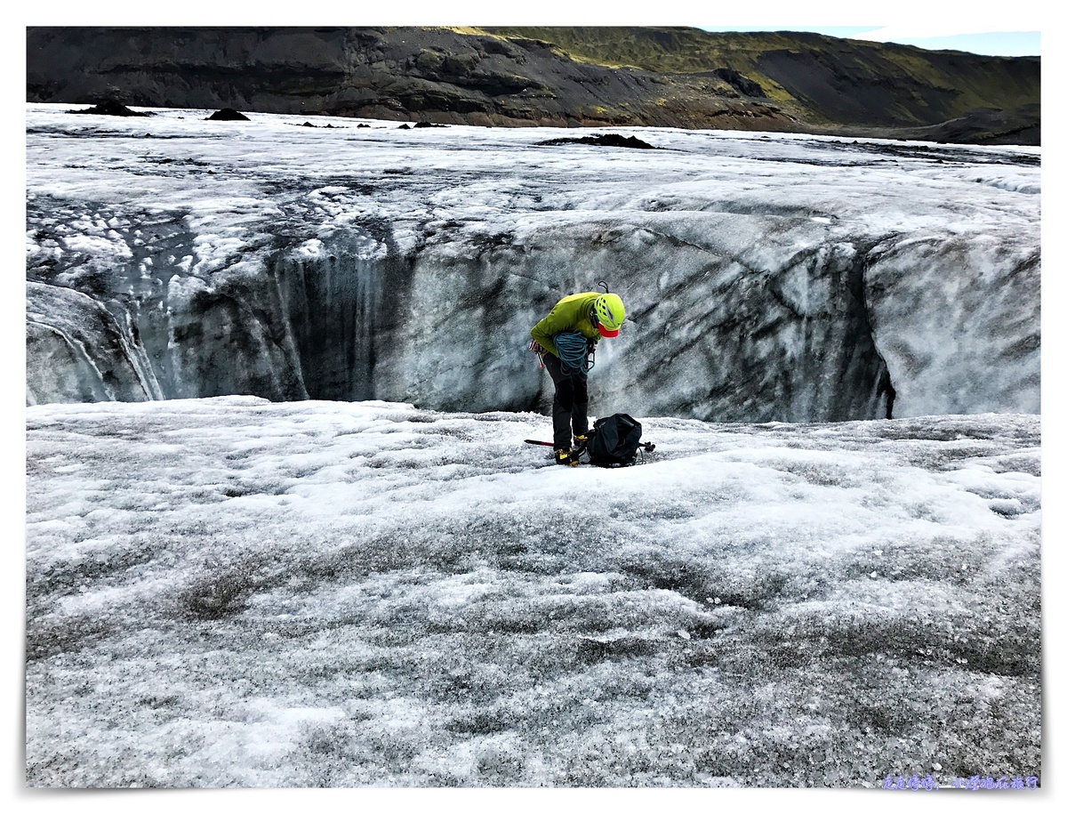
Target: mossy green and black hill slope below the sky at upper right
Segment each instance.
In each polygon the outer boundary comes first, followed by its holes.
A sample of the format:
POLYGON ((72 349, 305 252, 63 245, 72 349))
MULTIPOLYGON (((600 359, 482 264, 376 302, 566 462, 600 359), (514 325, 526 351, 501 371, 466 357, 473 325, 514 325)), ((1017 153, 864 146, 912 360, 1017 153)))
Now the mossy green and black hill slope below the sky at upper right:
MULTIPOLYGON (((579 61, 664 74, 730 71, 809 123, 935 125, 976 110, 1040 104, 1040 59, 928 51, 800 32, 490 28, 579 61)), ((734 83, 736 87, 736 83, 734 83)))

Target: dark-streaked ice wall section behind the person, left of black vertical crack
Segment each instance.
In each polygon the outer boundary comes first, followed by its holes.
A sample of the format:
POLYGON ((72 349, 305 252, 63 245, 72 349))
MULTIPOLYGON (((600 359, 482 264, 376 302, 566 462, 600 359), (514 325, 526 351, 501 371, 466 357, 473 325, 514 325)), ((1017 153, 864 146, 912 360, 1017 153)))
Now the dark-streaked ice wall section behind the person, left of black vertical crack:
POLYGON ((412 302, 450 294, 457 307, 434 334, 407 320, 403 350, 384 377, 399 389, 383 396, 448 409, 504 409, 499 400, 536 407, 551 387, 521 353, 528 327, 568 289, 606 280, 630 313, 619 338, 600 343, 590 374, 601 414, 885 418, 891 390, 856 247, 813 242, 810 229, 771 245, 760 239, 765 225, 748 216, 646 214, 509 235, 476 263, 460 260, 476 251, 469 242, 451 244, 450 256, 426 252, 412 302), (435 353, 442 336, 462 347, 435 353))

